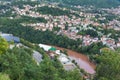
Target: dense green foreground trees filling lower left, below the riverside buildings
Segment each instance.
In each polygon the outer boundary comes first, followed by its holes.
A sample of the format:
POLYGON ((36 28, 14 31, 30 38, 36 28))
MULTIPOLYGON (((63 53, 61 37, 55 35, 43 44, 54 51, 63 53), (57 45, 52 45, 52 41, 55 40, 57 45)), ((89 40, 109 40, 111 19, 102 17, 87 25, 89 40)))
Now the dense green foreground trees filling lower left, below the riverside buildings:
POLYGON ((56 58, 51 60, 41 48, 29 42, 22 40, 23 44, 32 45, 32 49, 21 46, 4 47, 5 50, 1 46, 8 43, 2 38, 0 42, 0 80, 83 80, 79 70, 65 71, 56 58), (40 65, 32 57, 33 47, 44 55, 40 65))

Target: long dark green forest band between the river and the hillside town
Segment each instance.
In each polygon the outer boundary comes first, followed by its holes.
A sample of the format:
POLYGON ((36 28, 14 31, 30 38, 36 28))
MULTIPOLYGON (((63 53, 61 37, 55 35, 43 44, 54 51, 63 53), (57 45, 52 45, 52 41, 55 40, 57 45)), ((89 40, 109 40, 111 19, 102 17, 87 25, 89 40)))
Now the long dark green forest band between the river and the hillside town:
POLYGON ((54 34, 54 32, 51 32, 49 30, 43 32, 39 30, 34 30, 31 27, 23 27, 19 24, 16 24, 18 23, 18 21, 16 20, 10 20, 10 21, 2 20, 2 21, 1 22, 3 25, 2 27, 0 27, 1 31, 14 34, 16 36, 19 36, 20 38, 23 38, 33 43, 55 45, 55 46, 72 49, 77 52, 82 52, 84 54, 89 54, 89 55, 99 54, 99 50, 102 47, 104 47, 102 43, 93 43, 90 46, 80 47, 79 45, 82 42, 80 39, 75 41, 75 40, 69 39, 66 36, 56 35, 54 34))

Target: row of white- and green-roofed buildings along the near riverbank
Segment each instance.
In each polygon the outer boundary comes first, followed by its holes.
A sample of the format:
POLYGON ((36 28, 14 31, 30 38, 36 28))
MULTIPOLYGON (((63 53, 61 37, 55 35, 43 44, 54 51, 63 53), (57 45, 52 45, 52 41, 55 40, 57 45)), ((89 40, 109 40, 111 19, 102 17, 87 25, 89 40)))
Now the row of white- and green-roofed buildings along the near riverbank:
POLYGON ((65 70, 72 70, 76 66, 74 63, 72 63, 71 59, 68 58, 67 55, 60 52, 60 50, 57 50, 55 47, 45 45, 45 44, 39 44, 41 48, 43 48, 49 57, 53 59, 55 56, 57 56, 57 59, 61 62, 65 70))

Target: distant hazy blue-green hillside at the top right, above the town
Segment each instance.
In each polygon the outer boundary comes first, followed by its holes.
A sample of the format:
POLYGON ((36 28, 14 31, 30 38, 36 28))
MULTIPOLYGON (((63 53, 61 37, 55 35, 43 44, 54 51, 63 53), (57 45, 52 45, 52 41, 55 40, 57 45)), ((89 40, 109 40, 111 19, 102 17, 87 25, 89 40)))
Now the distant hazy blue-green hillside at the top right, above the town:
POLYGON ((120 5, 120 0, 47 0, 51 2, 61 2, 68 5, 95 6, 100 8, 116 7, 120 5))

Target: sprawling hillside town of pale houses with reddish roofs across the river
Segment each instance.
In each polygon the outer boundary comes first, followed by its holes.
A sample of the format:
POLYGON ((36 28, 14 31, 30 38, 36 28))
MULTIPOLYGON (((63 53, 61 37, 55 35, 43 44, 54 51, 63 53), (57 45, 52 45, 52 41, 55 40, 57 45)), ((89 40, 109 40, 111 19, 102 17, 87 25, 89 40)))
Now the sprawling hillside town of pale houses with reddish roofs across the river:
MULTIPOLYGON (((82 10, 74 11, 72 9, 61 8, 56 4, 39 4, 35 6, 24 5, 23 7, 24 8, 21 9, 17 6, 14 6, 13 13, 17 13, 18 15, 21 15, 21 16, 29 16, 34 18, 42 17, 45 20, 47 20, 46 23, 44 22, 21 23, 23 26, 30 26, 36 30, 42 30, 42 31, 46 31, 46 30, 52 31, 54 27, 59 27, 60 30, 55 32, 57 35, 60 35, 60 34, 65 35, 68 38, 73 40, 80 39, 82 41, 82 44, 80 44, 80 46, 89 46, 92 43, 102 42, 103 44, 107 45, 110 48, 119 47, 120 41, 116 42, 114 39, 109 39, 108 36, 106 36, 107 40, 103 40, 103 36, 104 36, 103 30, 114 29, 119 31, 120 21, 117 19, 113 19, 112 21, 108 20, 107 23, 104 23, 104 20, 107 19, 105 15, 109 15, 109 14, 99 13, 101 12, 101 10, 99 10, 98 13, 91 13, 91 12, 86 13, 84 12, 84 10, 87 11, 89 9, 76 6, 76 8, 80 8, 82 10), (44 6, 48 6, 49 8, 58 8, 63 11, 68 10, 70 11, 71 14, 70 16, 68 15, 53 16, 51 14, 41 14, 40 12, 37 12, 35 10, 37 8, 44 7, 44 6), (100 23, 100 21, 102 21, 102 23, 100 23), (98 36, 92 37, 89 34, 78 34, 79 32, 83 33, 84 31, 87 31, 87 30, 96 32, 98 36)), ((115 10, 117 9, 119 10, 119 8, 116 8, 115 10)))

